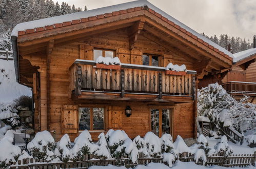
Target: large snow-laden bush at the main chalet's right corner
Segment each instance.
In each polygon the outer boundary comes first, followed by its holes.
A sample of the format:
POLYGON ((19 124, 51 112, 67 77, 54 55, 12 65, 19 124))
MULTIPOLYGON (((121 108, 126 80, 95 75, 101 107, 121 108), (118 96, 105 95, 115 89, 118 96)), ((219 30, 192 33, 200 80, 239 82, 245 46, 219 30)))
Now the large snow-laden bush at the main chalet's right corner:
POLYGON ((233 126, 243 132, 256 126, 256 105, 247 103, 247 99, 237 101, 218 83, 210 84, 198 92, 198 115, 207 116, 217 130, 233 126))

